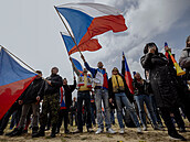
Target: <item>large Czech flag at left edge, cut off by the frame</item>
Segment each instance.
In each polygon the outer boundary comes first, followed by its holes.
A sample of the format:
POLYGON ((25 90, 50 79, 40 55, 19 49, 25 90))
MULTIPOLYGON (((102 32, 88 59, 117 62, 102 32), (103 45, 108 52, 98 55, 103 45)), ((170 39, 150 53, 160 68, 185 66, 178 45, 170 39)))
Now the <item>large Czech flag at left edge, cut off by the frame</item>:
POLYGON ((23 68, 6 51, 0 51, 0 119, 15 102, 36 74, 23 68))

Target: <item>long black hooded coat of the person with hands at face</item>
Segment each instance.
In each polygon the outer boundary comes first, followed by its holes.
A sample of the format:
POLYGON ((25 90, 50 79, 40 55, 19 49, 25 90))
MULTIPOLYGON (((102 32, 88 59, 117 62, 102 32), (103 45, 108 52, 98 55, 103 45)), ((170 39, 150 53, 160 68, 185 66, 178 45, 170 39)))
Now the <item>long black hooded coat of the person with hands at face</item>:
POLYGON ((146 53, 140 63, 149 70, 150 84, 158 107, 173 107, 180 103, 177 74, 161 53, 146 53))

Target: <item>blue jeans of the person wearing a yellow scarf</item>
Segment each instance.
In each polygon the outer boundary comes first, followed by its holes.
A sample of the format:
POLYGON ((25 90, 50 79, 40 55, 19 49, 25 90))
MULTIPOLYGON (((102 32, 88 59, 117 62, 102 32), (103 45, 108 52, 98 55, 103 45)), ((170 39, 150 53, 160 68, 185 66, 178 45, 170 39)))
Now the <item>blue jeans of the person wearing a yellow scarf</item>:
POLYGON ((115 100, 116 100, 116 105, 117 105, 117 119, 118 119, 119 127, 124 128, 123 107, 122 107, 122 102, 123 102, 124 106, 126 107, 126 109, 129 111, 135 125, 137 128, 139 128, 140 123, 138 122, 137 113, 136 113, 135 109, 133 108, 131 103, 129 102, 125 92, 115 94, 115 100))

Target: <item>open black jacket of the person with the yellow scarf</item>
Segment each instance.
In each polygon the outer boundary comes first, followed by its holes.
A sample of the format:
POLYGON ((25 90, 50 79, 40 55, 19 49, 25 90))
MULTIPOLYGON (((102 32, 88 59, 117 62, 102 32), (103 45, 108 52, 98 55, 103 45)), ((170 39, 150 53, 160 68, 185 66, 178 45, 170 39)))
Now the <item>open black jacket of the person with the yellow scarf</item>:
MULTIPOLYGON (((120 75, 120 74, 119 74, 120 75)), ((120 75, 122 76, 122 75, 120 75)), ((130 94, 129 89, 128 89, 128 86, 126 84, 126 80, 124 78, 124 76, 122 76, 123 78, 123 81, 124 81, 124 86, 125 86, 125 95, 127 96, 127 98, 129 99, 130 102, 134 101, 134 97, 133 95, 130 94)), ((112 77, 108 79, 108 95, 109 95, 109 98, 112 98, 113 100, 115 100, 115 94, 113 92, 113 83, 112 83, 112 77)))

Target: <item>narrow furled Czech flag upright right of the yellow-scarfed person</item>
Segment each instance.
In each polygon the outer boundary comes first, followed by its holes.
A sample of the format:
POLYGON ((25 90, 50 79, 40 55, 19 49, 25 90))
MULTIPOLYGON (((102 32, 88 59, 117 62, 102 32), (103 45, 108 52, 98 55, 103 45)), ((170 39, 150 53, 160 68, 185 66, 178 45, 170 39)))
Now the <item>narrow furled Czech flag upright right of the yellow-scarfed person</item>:
MULTIPOLYGON (((123 52, 123 56, 125 57, 124 52, 123 52)), ((130 94, 134 95, 133 78, 131 78, 131 75, 130 75, 130 70, 129 70, 126 57, 124 59, 124 65, 123 65, 123 69, 122 70, 125 70, 126 84, 127 84, 127 86, 128 86, 128 88, 130 90, 130 94)))

